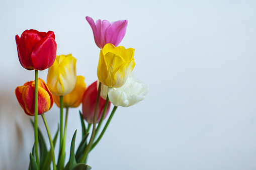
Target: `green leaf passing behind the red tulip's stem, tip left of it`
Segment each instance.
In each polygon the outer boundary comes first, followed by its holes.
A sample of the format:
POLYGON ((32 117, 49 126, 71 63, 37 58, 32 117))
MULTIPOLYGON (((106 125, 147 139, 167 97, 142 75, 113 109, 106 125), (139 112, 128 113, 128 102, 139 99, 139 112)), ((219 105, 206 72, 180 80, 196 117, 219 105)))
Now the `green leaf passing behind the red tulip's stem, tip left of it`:
MULTIPOLYGON (((34 122, 32 120, 31 120, 31 123, 34 127, 34 122)), ((40 148, 40 168, 42 168, 43 163, 45 162, 48 151, 47 151, 47 147, 46 147, 46 144, 45 144, 44 136, 43 136, 40 128, 38 128, 38 142, 39 142, 39 148, 40 148)))

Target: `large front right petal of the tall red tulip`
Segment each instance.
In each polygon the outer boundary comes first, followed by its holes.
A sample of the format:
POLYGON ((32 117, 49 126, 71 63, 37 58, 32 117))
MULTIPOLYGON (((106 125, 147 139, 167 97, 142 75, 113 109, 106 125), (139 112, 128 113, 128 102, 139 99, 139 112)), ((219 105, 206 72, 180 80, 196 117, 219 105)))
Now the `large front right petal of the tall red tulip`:
POLYGON ((35 46, 31 58, 36 70, 45 70, 53 65, 57 44, 52 37, 43 38, 35 46))

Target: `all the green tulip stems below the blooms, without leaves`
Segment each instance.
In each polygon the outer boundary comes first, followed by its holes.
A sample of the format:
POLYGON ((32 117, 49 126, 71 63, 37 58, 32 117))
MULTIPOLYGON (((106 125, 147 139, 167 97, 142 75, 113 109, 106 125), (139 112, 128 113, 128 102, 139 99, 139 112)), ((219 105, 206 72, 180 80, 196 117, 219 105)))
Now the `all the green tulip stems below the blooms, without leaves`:
MULTIPOLYGON (((40 169, 39 167, 39 156, 38 156, 38 70, 35 70, 35 120, 34 120, 34 129, 35 129, 35 153, 36 153, 36 163, 38 166, 38 169, 40 169)), ((93 130, 92 130, 92 135, 90 138, 90 141, 88 143, 88 145, 86 146, 86 149, 84 150, 82 157, 79 160, 79 163, 86 163, 87 158, 88 158, 88 154, 89 152, 98 144, 98 142, 101 140, 103 134, 105 133, 112 117, 114 116, 114 113, 117 109, 117 106, 115 106, 109 116, 108 121, 105 124, 105 127, 103 128, 101 134, 99 135, 98 139, 96 140, 96 136, 100 130, 100 127, 102 125, 102 122, 104 120, 104 117, 106 115, 107 112, 107 107, 108 107, 108 103, 109 103, 109 97, 107 96, 106 98, 106 102, 105 102, 105 106, 104 106, 104 111, 102 114, 102 117, 100 119, 100 122, 96 128, 96 124, 97 124, 97 117, 98 117, 98 108, 99 108, 99 102, 100 102, 100 94, 101 94, 101 83, 99 84, 99 88, 98 88, 98 94, 97 94, 97 101, 96 101, 96 106, 95 106, 95 113, 94 113, 94 121, 93 121, 93 130), (96 140, 96 141, 95 141, 96 140)), ((51 133, 50 133, 50 129, 49 126, 47 124, 45 115, 42 114, 41 115, 47 130, 47 134, 48 134, 48 138, 49 138, 49 142, 50 142, 50 152, 51 152, 51 157, 52 157, 52 164, 53 164, 53 170, 56 170, 56 162, 55 162, 55 155, 54 155, 54 145, 53 145, 53 141, 52 141, 52 137, 51 137, 51 133)), ((68 107, 66 108, 66 116, 65 116, 65 125, 64 125, 64 133, 63 133, 63 96, 60 96, 60 147, 59 147, 59 156, 58 156, 58 169, 63 170, 64 168, 64 158, 65 158, 65 143, 66 143, 66 132, 67 132, 67 119, 68 119, 68 107)), ((87 128, 87 133, 90 130, 92 124, 88 124, 88 128, 87 128)))

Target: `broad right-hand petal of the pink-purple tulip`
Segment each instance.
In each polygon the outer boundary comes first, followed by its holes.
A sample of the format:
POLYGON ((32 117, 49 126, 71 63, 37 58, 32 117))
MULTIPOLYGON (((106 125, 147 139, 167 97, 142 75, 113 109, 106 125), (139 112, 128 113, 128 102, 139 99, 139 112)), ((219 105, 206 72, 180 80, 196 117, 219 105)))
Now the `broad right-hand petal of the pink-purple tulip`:
POLYGON ((127 20, 119 20, 111 23, 106 33, 106 42, 118 46, 125 36, 127 25, 127 20))

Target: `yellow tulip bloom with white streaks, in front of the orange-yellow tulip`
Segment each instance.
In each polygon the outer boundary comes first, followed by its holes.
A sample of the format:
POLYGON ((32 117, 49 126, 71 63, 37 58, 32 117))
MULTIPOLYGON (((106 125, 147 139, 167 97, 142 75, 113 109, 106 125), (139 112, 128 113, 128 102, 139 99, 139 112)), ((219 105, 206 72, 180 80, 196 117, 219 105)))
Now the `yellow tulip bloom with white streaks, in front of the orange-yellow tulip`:
POLYGON ((76 84, 76 59, 71 54, 56 57, 48 70, 47 85, 57 96, 70 93, 76 84))

